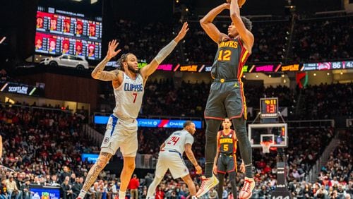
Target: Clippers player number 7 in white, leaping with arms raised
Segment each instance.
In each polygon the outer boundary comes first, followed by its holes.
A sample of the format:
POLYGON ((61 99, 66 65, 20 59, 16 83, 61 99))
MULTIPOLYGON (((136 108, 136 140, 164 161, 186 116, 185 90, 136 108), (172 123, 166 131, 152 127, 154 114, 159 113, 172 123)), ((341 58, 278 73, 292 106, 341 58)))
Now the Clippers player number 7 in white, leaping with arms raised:
POLYGON ((119 69, 103 71, 108 61, 121 51, 120 49, 115 50, 118 46, 116 40, 109 42, 107 56, 92 71, 92 78, 112 81, 116 106, 107 123, 100 156, 90 168, 78 198, 85 197, 85 193, 119 147, 124 157, 124 167, 120 175, 119 198, 125 198, 128 182, 135 169, 135 157, 138 150, 136 118, 142 104, 145 82, 148 76, 155 72, 158 65, 173 51, 178 42, 184 38, 188 30, 188 23, 184 23, 177 37, 161 49, 150 64, 140 70, 136 56, 128 53, 121 55, 119 69))

